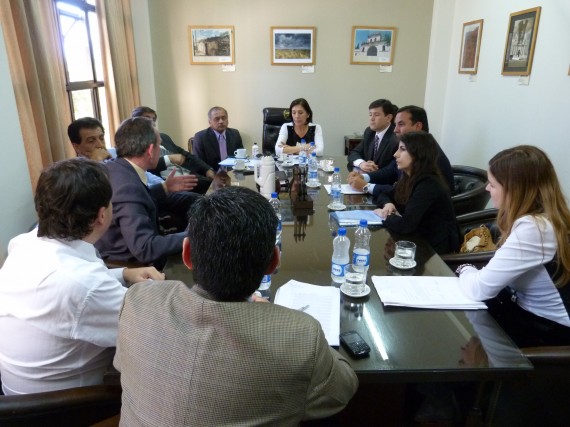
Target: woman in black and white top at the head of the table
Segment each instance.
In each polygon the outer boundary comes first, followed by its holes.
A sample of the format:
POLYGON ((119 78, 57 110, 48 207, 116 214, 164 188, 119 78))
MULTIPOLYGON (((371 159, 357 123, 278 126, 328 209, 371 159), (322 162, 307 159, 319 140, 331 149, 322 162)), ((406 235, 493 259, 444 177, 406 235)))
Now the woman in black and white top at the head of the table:
POLYGON ((305 140, 306 144, 315 143, 317 156, 323 155, 323 130, 320 125, 311 123, 313 110, 305 98, 295 99, 289 106, 289 116, 293 120, 281 126, 279 137, 275 143, 275 153, 280 155, 299 154, 301 150, 308 147, 301 144, 305 140))

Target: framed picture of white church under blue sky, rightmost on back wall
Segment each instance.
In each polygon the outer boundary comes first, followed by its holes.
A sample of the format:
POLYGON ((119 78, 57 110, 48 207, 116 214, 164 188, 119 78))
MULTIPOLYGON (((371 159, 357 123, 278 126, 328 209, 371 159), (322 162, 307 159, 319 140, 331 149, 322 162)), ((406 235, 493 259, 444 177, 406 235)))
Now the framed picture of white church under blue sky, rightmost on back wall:
POLYGON ((350 63, 392 65, 395 46, 395 27, 352 27, 350 63))

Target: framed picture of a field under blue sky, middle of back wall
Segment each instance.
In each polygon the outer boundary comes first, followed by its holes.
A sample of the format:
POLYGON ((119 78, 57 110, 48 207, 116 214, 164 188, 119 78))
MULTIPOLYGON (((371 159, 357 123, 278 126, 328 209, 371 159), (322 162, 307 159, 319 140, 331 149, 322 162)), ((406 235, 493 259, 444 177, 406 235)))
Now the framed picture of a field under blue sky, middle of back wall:
POLYGON ((271 65, 314 65, 316 27, 271 27, 271 65))

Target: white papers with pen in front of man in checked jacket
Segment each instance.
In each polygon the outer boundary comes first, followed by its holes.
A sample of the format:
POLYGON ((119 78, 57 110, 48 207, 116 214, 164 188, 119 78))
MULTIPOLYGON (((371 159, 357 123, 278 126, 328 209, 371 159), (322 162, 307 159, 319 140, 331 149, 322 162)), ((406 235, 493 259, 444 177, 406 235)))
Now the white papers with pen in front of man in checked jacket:
POLYGON ((277 290, 275 304, 310 314, 321 324, 329 345, 339 345, 340 289, 289 280, 277 290))

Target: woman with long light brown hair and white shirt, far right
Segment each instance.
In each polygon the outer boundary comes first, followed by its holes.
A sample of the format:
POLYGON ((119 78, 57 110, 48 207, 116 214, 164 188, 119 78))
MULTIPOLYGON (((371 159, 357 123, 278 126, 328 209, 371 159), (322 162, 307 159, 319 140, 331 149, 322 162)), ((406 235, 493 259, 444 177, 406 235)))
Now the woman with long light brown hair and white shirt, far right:
POLYGON ((570 210, 548 156, 521 145, 489 161, 499 248, 486 267, 457 268, 519 347, 570 345, 570 210))

